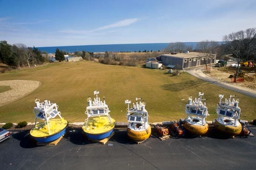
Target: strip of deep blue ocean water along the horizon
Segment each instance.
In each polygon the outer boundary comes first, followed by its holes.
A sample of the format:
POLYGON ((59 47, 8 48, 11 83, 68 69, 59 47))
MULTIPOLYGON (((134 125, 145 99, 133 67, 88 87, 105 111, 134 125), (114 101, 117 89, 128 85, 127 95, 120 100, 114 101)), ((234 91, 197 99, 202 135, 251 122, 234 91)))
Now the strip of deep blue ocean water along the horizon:
MULTIPOLYGON (((46 51, 47 53, 55 53, 56 48, 66 51, 89 51, 89 52, 120 52, 120 51, 158 51, 163 50, 167 47, 169 43, 147 43, 147 44, 104 44, 104 45, 74 45, 74 46, 55 46, 55 47, 37 47, 41 51, 46 51)), ((187 42, 186 45, 192 45, 195 47, 196 42, 187 42)))

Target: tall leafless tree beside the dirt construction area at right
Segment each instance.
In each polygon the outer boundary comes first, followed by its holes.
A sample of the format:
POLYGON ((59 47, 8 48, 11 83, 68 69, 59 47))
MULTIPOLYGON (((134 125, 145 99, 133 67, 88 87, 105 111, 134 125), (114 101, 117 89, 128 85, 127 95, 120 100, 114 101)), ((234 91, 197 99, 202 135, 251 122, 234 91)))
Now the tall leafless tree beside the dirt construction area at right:
POLYGON ((233 32, 223 37, 223 41, 227 43, 229 51, 236 57, 237 68, 235 80, 239 73, 239 63, 242 60, 248 60, 249 57, 255 57, 256 53, 256 28, 249 28, 245 31, 233 32))

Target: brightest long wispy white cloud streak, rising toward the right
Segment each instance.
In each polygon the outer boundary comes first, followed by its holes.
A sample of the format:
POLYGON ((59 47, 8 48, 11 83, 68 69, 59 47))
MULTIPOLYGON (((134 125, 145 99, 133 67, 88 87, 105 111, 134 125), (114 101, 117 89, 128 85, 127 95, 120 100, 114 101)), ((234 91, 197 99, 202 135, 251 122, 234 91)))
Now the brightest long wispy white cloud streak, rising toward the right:
POLYGON ((102 30, 107 30, 111 28, 117 28, 121 26, 128 26, 131 25, 135 22, 137 22, 139 19, 133 18, 133 19, 123 19, 121 21, 115 22, 113 24, 101 26, 99 28, 93 29, 93 30, 61 30, 59 32, 61 33, 68 33, 68 34, 86 34, 86 33, 93 33, 95 31, 102 31, 102 30))

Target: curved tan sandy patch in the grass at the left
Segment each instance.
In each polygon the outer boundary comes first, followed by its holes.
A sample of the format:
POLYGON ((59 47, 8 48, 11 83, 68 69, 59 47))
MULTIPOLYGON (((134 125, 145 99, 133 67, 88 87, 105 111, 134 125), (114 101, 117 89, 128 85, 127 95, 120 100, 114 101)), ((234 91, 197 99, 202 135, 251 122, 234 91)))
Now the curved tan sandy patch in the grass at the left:
POLYGON ((40 82, 30 80, 6 80, 0 81, 0 86, 10 86, 10 88, 12 88, 11 90, 0 93, 0 106, 3 106, 30 94, 40 86, 40 82))

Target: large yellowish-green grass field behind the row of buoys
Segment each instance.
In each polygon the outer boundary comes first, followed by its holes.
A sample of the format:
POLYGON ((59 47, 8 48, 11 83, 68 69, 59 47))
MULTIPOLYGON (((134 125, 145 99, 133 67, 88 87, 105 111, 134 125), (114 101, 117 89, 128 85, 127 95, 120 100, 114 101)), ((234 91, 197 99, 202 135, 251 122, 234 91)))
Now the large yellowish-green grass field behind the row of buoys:
MULTIPOLYGON (((218 94, 237 95, 242 109, 241 119, 256 119, 256 99, 204 82, 187 73, 170 76, 163 70, 139 67, 104 65, 94 62, 51 63, 36 68, 13 70, 0 74, 1 80, 35 80, 41 85, 24 98, 0 107, 0 122, 34 122, 34 98, 49 100, 59 105, 61 115, 69 122, 86 119, 87 97, 95 90, 105 96, 110 115, 116 121, 126 121, 125 100, 141 97, 146 102, 149 121, 185 118, 184 107, 191 94, 204 93, 210 116, 217 117, 218 94)), ((0 92, 7 90, 0 87, 0 92)))

